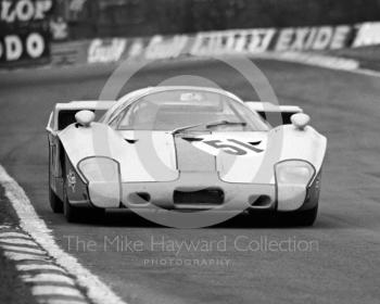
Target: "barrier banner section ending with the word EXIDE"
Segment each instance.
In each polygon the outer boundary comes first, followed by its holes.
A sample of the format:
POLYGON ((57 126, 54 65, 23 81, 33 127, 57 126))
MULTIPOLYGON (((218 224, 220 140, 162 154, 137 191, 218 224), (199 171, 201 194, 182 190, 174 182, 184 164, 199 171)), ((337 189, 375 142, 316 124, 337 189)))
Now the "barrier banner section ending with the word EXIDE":
POLYGON ((355 27, 311 26, 199 33, 192 55, 254 54, 265 51, 332 50, 349 47, 355 27))

